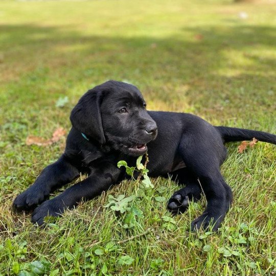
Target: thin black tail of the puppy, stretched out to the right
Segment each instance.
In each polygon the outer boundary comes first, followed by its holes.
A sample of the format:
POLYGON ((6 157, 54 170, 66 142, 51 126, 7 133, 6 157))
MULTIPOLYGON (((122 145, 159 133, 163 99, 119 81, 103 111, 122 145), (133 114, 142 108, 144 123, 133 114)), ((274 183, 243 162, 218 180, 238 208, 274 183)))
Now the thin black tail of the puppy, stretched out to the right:
POLYGON ((259 141, 276 145, 276 135, 268 132, 224 126, 217 126, 215 128, 220 133, 224 142, 249 141, 255 138, 259 141))

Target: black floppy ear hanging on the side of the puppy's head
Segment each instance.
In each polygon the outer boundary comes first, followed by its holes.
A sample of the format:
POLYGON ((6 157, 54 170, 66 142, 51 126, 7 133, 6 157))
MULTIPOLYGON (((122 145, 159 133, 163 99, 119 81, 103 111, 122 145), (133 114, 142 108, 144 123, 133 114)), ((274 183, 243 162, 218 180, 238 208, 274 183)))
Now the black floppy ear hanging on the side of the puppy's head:
POLYGON ((101 98, 101 90, 95 88, 88 90, 73 108, 70 120, 77 130, 100 144, 104 144, 105 138, 100 110, 101 98))

